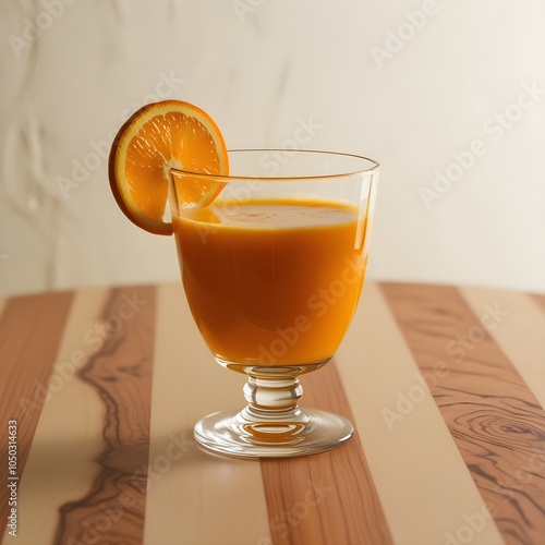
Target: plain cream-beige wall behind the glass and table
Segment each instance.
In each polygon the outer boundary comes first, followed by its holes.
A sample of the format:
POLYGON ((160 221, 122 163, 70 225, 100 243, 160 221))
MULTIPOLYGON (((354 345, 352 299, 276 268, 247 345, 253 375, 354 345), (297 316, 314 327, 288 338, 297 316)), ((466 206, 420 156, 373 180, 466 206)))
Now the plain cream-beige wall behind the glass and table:
POLYGON ((178 280, 106 159, 170 97, 377 159, 371 278, 545 291, 541 0, 0 0, 0 37, 1 294, 178 280))

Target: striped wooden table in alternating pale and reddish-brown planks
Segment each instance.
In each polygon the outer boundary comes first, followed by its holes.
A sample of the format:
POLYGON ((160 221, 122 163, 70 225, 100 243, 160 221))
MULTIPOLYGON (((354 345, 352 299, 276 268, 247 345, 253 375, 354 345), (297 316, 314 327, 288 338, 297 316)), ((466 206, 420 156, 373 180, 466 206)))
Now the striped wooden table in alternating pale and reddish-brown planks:
POLYGON ((544 544, 544 334, 545 295, 368 282, 303 378, 302 404, 355 436, 252 462, 192 437, 242 407, 244 378, 213 362, 181 286, 5 299, 2 543, 544 544))

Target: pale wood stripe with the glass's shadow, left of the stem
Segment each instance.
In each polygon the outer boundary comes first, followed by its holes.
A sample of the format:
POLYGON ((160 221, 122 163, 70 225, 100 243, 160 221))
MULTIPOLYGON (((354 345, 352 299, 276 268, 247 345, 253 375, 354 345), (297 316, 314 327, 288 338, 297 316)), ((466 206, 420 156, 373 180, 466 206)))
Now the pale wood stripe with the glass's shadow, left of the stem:
POLYGON ((244 378, 214 362, 180 284, 159 289, 146 545, 266 545, 257 462, 215 457, 193 439, 199 417, 242 408, 244 378))

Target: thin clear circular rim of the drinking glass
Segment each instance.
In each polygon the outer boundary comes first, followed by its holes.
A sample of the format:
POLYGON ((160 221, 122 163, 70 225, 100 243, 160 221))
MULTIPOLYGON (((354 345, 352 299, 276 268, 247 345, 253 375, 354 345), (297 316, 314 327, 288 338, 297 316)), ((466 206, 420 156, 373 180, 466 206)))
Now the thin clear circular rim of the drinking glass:
POLYGON ((191 170, 184 170, 183 168, 177 167, 168 167, 169 173, 179 173, 191 177, 198 178, 215 178, 219 180, 225 180, 228 182, 229 180, 263 180, 263 181, 287 181, 287 180, 326 180, 326 179, 337 179, 337 178, 347 178, 356 174, 373 174, 378 172, 380 168, 380 164, 371 157, 366 157, 358 154, 349 154, 346 152, 329 152, 323 149, 294 149, 294 148, 234 148, 228 149, 227 154, 237 154, 237 153, 288 153, 288 154, 319 154, 319 155, 334 155, 337 157, 351 157, 354 159, 365 160, 371 164, 370 167, 363 169, 350 169, 349 171, 342 171, 337 173, 326 173, 326 174, 294 174, 294 175, 249 175, 249 174, 213 174, 209 172, 194 172, 191 170))

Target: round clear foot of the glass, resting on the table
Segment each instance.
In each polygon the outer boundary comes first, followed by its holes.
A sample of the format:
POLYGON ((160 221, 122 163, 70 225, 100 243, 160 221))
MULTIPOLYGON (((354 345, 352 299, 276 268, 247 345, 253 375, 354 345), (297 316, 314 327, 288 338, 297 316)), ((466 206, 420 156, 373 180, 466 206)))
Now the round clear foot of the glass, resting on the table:
POLYGON ((338 447, 354 433, 342 416, 298 408, 296 417, 249 417, 241 412, 217 412, 195 424, 195 439, 215 452, 241 458, 289 458, 338 447))

